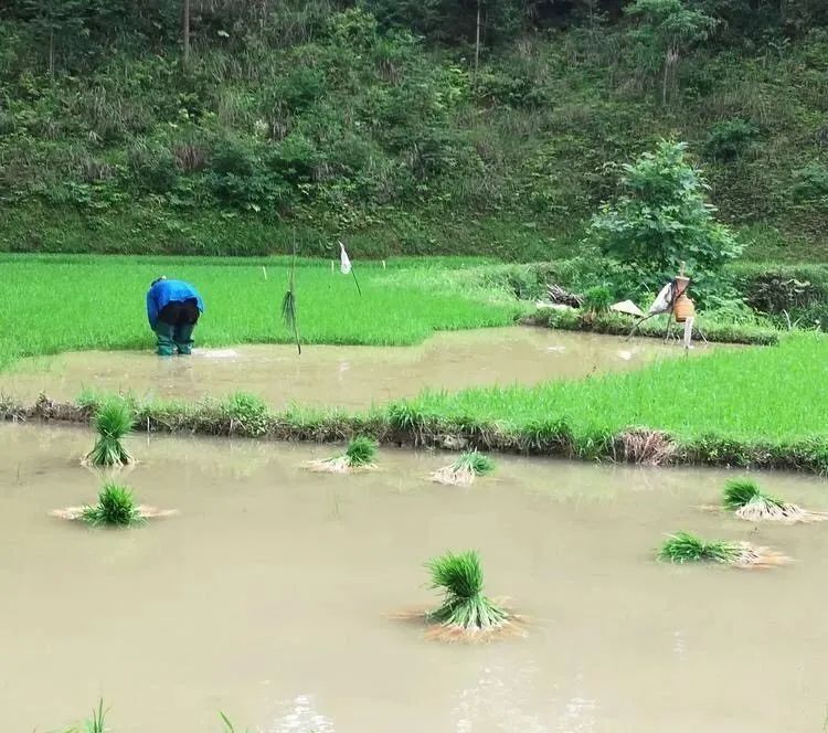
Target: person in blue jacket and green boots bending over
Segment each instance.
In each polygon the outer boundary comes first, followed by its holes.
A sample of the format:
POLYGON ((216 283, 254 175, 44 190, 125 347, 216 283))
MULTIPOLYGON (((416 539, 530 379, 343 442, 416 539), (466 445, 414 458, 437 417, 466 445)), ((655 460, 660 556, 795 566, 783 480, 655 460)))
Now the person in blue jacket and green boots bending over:
POLYGON ((192 353, 192 332, 204 312, 195 288, 183 280, 159 277, 147 291, 147 318, 158 338, 158 355, 192 353))

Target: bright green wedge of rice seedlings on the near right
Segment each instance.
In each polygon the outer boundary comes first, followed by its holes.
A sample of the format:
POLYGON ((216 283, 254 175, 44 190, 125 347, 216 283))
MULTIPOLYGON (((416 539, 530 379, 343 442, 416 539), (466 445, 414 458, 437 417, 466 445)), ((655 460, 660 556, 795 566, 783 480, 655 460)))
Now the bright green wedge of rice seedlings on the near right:
POLYGON ((406 402, 424 421, 497 424, 530 434, 563 419, 577 438, 643 426, 679 439, 828 436, 828 337, 797 334, 778 347, 668 359, 624 374, 533 387, 425 392, 406 402))

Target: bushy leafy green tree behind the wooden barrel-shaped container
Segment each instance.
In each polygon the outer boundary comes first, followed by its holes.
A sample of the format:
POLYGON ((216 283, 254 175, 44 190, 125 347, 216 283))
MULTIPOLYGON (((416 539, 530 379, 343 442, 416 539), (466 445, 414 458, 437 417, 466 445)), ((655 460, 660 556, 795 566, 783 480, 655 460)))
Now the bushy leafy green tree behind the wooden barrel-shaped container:
POLYGON ((713 217, 701 171, 686 158, 687 144, 662 140, 624 166, 622 193, 593 216, 591 232, 604 251, 650 285, 676 275, 682 262, 697 279, 741 254, 730 230, 713 217))

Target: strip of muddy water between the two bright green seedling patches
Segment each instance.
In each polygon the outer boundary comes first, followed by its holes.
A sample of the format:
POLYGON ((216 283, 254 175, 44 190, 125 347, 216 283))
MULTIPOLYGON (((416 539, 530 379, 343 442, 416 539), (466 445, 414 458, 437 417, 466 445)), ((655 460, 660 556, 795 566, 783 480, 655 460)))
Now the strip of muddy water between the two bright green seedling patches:
POLYGON ((0 391, 31 401, 41 392, 73 400, 84 387, 188 400, 241 390, 276 407, 291 402, 364 407, 425 387, 533 384, 635 369, 681 353, 679 346, 656 339, 516 327, 438 333, 412 348, 307 346, 301 357, 289 346, 197 349, 191 358, 174 359, 150 351, 67 353, 19 362, 0 373, 0 391))

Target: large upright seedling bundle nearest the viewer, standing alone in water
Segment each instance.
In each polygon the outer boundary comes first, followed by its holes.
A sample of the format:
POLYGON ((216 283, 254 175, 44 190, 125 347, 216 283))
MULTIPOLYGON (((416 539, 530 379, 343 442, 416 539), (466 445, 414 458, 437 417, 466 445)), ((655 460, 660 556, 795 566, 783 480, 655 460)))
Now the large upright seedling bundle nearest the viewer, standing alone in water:
POLYGON ((447 552, 426 566, 432 574, 432 588, 444 593, 443 605, 426 614, 426 620, 434 624, 431 637, 485 641, 495 636, 522 634, 517 619, 484 595, 482 567, 476 552, 447 552))

